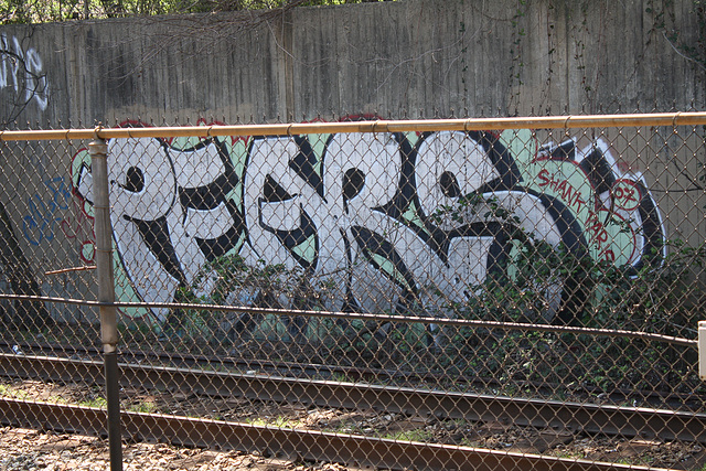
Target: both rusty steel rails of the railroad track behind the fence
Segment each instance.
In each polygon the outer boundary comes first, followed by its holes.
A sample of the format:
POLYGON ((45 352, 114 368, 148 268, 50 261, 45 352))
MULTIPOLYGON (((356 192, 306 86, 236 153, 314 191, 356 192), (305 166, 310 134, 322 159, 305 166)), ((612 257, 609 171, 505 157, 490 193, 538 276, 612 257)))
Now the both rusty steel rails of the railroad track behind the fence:
MULTIPOLYGON (((84 352, 98 356, 98 352, 84 352)), ((132 356, 135 360, 135 356, 132 356)), ((174 360, 174 358, 172 358, 174 360)), ((179 361, 203 362, 186 357, 179 361)), ((201 367, 152 366, 121 363, 122 387, 239 397, 248 400, 296 403, 328 408, 373 409, 446 419, 489 421, 560 429, 569 432, 605 433, 640 439, 680 440, 706 443, 706 415, 653 408, 618 407, 544 399, 461 394, 408 387, 375 386, 324 379, 285 377, 266 373, 225 373, 201 367), (660 430, 656 437, 654 430, 660 430)), ((194 363, 192 366, 199 366, 194 363)), ((203 365, 201 365, 203 366, 203 365)), ((252 366, 247 364, 245 366, 252 366)), ((271 367, 278 366, 276 364, 271 367)), ((281 367, 281 365, 279 365, 281 367)), ((289 365, 288 365, 289 367, 289 365)), ((291 373, 291 370, 288 370, 291 373)), ((320 372, 318 372, 319 374, 320 372)), ((0 375, 47 382, 85 383, 103 381, 103 362, 36 355, 0 354, 0 375)), ((43 429, 104 435, 105 410, 0 399, 0 420, 6 425, 33 425, 43 429)), ((601 463, 559 460, 525 453, 496 452, 472 448, 405 443, 372 437, 327 433, 222 420, 122 414, 125 436, 133 440, 164 441, 164 430, 173 430, 174 445, 217 447, 271 453, 271 443, 287 456, 389 468, 449 469, 459 463, 524 469, 602 469, 601 463), (207 437, 207 439, 204 439, 207 437), (309 456, 318 450, 317 456, 309 456), (381 451, 382 450, 382 451, 381 451), (492 465, 491 465, 492 464, 492 465)), ((606 467, 620 468, 614 463, 606 467)), ((630 468, 635 469, 635 468, 630 468)))

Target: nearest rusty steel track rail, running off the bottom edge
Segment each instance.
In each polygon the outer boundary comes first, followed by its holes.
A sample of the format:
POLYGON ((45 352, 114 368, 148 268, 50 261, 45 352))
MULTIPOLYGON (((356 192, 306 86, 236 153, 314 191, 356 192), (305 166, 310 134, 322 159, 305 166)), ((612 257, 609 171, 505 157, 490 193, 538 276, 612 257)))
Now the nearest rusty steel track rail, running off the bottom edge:
MULTIPOLYGON (((94 407, 0 398, 0 422, 100 437, 107 435, 106 410, 94 407)), ((125 436, 135 441, 170 442, 176 446, 212 449, 217 447, 221 450, 259 452, 266 457, 325 460, 375 469, 656 470, 618 463, 171 415, 124 411, 121 426, 125 436)))

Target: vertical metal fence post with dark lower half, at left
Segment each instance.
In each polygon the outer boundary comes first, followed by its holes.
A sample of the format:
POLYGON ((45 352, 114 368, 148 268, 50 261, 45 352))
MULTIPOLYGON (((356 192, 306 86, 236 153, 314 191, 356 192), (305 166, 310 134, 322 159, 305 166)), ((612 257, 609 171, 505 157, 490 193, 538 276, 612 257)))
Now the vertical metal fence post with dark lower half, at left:
POLYGON ((113 227, 108 197, 108 146, 96 138, 88 144, 93 174, 94 211, 96 229, 96 271, 98 272, 98 301, 100 306, 100 341, 106 374, 108 403, 108 446, 110 471, 122 470, 122 443, 120 437, 120 394, 118 386, 118 324, 115 306, 113 275, 113 227))

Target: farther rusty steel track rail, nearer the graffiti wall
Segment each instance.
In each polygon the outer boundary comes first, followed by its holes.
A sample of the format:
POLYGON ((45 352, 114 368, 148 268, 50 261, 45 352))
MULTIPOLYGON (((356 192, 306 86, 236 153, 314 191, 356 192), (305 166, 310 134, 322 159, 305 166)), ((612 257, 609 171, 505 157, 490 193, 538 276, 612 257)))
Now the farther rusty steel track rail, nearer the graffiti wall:
MULTIPOLYGON (((120 385, 706 443, 706 414, 120 363, 120 385)), ((100 384, 103 362, 0 354, 0 375, 100 384)))

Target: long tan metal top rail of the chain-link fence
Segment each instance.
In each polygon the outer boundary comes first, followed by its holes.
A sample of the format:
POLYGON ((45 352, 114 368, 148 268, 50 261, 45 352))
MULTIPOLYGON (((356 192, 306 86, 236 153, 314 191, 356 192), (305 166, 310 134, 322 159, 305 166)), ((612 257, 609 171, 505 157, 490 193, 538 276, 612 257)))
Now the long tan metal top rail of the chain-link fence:
POLYGON ((113 138, 176 138, 212 136, 293 136, 309 133, 353 132, 430 132, 504 129, 574 129, 595 127, 699 126, 706 125, 706 113, 659 113, 641 115, 585 115, 523 118, 469 118, 425 120, 368 120, 341 122, 301 122, 238 126, 179 126, 143 128, 4 130, 0 141, 113 139, 113 138))

